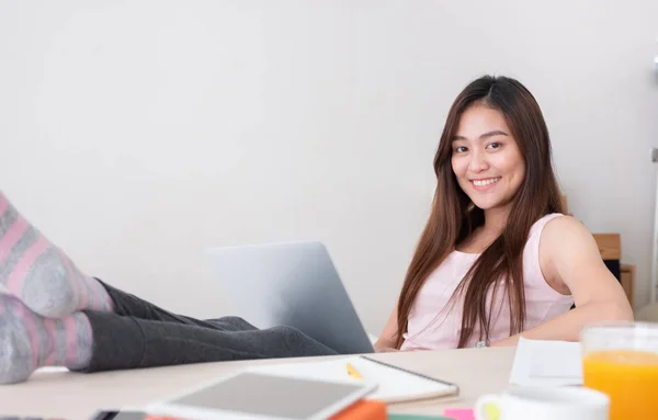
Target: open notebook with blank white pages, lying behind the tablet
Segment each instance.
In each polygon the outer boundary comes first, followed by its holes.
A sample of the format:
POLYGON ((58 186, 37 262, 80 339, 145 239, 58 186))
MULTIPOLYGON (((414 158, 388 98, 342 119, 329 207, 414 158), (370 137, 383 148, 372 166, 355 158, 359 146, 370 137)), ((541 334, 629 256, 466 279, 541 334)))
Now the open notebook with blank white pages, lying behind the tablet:
POLYGON ((281 363, 248 368, 273 375, 295 376, 319 381, 368 381, 377 388, 365 398, 387 404, 420 399, 453 397, 460 394, 457 385, 446 381, 404 370, 368 356, 341 357, 321 362, 281 363), (362 378, 348 372, 348 364, 362 378))

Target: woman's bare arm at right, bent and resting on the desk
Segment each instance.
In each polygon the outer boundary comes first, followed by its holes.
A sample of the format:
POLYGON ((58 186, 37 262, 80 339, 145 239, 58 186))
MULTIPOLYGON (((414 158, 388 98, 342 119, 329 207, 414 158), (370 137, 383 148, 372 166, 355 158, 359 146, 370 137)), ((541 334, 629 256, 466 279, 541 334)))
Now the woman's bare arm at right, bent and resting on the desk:
POLYGON ((527 339, 578 341, 581 328, 594 321, 633 320, 633 309, 620 282, 603 263, 587 228, 572 217, 546 224, 540 241, 544 277, 557 291, 570 292, 576 308, 521 334, 491 343, 515 345, 527 339))

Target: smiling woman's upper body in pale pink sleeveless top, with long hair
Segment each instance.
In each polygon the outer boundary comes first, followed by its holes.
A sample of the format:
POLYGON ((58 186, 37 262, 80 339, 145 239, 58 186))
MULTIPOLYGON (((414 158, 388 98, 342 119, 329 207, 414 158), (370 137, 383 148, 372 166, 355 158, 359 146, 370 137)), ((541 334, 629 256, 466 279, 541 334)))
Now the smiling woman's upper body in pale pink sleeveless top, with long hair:
POLYGON ((588 322, 633 318, 592 236, 564 215, 548 129, 518 80, 462 91, 434 171, 432 212, 376 349, 578 340, 588 322))

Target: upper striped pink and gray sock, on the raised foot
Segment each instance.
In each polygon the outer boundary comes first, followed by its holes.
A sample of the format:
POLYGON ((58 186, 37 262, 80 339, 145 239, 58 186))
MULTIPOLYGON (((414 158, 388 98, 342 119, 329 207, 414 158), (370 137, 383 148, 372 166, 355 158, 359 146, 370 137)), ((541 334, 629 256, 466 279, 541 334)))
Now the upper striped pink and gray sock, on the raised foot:
POLYGON ((76 310, 112 311, 112 299, 0 192, 0 284, 35 313, 59 318, 76 310))

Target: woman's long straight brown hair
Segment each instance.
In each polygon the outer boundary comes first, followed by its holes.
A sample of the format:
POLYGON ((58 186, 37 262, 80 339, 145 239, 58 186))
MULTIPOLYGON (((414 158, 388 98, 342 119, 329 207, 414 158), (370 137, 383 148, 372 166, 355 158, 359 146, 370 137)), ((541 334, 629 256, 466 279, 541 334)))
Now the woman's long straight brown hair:
POLYGON ((507 77, 485 76, 470 82, 451 106, 434 157, 436 190, 398 299, 397 348, 404 341, 411 307, 428 275, 485 223, 484 211, 462 191, 451 164, 451 143, 460 118, 474 104, 484 104, 502 114, 525 161, 525 175, 508 215, 508 220, 513 222, 507 223, 501 235, 478 257, 453 295, 453 299, 456 294, 464 297, 460 348, 466 345, 477 326, 478 339, 489 338, 492 308, 488 307, 487 295, 499 285, 503 286, 510 306, 510 336, 523 330, 523 248, 530 228, 544 215, 563 213, 548 128, 532 93, 507 77))

